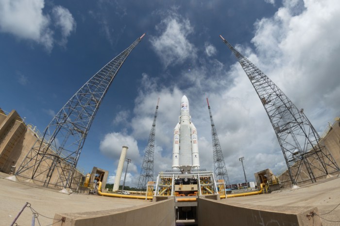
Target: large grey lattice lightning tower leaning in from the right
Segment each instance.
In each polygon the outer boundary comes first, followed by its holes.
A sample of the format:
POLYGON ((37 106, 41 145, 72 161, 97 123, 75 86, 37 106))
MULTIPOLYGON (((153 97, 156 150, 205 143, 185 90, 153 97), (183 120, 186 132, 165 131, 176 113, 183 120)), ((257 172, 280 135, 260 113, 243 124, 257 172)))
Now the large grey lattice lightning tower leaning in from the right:
POLYGON ((319 134, 304 114, 260 69, 239 53, 221 35, 252 82, 272 123, 288 167, 292 184, 303 180, 302 171, 312 182, 317 176, 339 171, 339 166, 321 144, 319 134))

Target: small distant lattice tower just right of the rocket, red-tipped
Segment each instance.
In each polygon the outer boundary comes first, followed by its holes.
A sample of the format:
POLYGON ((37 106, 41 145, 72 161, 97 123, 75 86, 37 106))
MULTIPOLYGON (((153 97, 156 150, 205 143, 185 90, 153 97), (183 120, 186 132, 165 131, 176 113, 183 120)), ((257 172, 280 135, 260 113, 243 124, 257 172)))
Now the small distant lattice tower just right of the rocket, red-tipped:
POLYGON ((214 173, 216 179, 223 179, 226 185, 230 185, 229 177, 227 173, 227 168, 225 167, 224 157, 222 153, 222 148, 220 145, 219 137, 217 136, 217 131, 215 128, 215 123, 212 118, 211 109, 209 105, 209 100, 206 98, 208 104, 210 122, 211 122, 211 136, 213 144, 213 155, 214 155, 214 173))

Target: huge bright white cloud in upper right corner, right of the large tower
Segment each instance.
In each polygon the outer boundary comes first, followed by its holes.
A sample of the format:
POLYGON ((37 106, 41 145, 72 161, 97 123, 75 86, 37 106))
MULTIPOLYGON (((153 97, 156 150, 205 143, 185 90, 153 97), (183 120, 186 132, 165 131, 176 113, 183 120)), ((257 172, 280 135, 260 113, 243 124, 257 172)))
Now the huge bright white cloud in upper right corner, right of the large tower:
MULTIPOLYGON (((304 108, 307 116, 319 112, 332 118, 340 104, 340 2, 306 0, 298 15, 292 7, 296 4, 286 0, 272 18, 258 21, 252 41, 268 65, 267 74, 298 108, 304 108)), ((321 131, 325 126, 316 128, 321 131)))

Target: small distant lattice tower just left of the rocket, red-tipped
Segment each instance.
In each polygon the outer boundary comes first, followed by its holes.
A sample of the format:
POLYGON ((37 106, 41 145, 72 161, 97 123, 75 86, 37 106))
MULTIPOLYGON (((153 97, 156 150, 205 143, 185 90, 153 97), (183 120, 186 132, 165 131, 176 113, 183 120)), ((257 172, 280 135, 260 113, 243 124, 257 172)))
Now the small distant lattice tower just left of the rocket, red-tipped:
POLYGON ((158 111, 159 97, 157 101, 156 111, 153 116, 153 125, 151 127, 148 145, 145 148, 142 168, 138 180, 138 189, 146 190, 148 181, 153 181, 153 155, 154 155, 154 136, 156 133, 156 119, 158 111))

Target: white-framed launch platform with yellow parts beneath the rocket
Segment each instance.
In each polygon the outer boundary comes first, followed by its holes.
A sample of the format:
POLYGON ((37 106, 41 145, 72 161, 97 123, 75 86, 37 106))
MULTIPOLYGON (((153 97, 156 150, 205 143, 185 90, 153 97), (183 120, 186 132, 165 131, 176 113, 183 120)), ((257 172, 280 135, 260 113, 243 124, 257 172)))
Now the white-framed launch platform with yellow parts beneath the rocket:
POLYGON ((176 225, 198 225, 198 199, 220 200, 219 191, 225 191, 224 181, 217 183, 214 173, 205 169, 192 169, 187 174, 166 170, 158 174, 155 186, 154 202, 174 199, 176 225))

